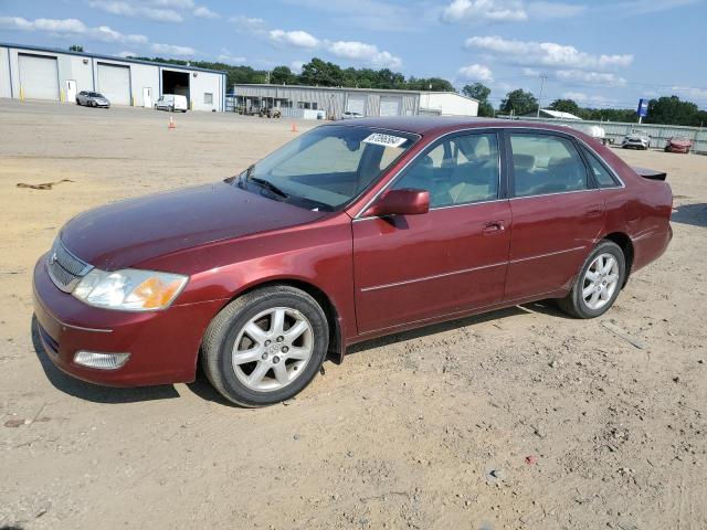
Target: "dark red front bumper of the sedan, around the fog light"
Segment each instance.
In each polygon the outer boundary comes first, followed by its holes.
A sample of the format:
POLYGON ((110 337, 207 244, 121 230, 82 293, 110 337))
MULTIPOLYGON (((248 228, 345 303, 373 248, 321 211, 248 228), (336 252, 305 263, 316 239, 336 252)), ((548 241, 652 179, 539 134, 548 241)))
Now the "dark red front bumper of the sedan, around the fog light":
POLYGON ((193 381, 201 338, 224 300, 154 312, 99 309, 56 288, 45 263, 42 256, 34 266, 34 315, 44 350, 57 368, 114 386, 193 381), (78 350, 130 353, 130 358, 116 370, 93 369, 73 362, 78 350))

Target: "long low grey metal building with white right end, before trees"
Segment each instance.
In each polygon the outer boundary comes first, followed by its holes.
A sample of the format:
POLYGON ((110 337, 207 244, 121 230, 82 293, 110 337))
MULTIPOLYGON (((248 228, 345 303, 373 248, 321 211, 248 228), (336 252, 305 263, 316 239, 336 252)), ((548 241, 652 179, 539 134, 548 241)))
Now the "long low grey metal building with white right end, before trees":
POLYGON ((245 112, 278 107, 283 115, 339 119, 361 116, 477 116, 478 102, 453 92, 391 91, 300 85, 234 85, 235 105, 245 112))

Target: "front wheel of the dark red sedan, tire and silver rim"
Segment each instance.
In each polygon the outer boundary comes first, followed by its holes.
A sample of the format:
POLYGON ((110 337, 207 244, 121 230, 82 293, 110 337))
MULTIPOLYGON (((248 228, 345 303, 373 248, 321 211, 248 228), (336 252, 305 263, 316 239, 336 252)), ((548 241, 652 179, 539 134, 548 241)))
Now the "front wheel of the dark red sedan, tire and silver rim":
POLYGON ((328 346, 329 326, 317 301, 294 287, 273 286, 236 298, 215 316, 203 338, 201 362, 226 400, 246 407, 266 406, 307 386, 328 346), (304 331, 297 335, 299 329, 304 331))

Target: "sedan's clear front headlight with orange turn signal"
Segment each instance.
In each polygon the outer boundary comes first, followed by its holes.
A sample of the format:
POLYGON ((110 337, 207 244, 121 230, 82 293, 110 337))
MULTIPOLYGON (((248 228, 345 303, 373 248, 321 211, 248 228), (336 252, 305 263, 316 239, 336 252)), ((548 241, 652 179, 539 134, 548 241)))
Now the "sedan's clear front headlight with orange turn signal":
POLYGON ((89 306, 124 311, 166 309, 187 285, 188 276, 125 268, 92 269, 72 293, 89 306))

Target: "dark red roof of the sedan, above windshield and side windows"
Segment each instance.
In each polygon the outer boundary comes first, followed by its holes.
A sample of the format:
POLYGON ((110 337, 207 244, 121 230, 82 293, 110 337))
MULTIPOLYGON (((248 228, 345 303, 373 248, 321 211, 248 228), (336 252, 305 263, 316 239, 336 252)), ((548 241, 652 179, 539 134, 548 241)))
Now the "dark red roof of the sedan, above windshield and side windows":
POLYGON ((380 129, 392 129, 416 135, 440 135, 484 127, 507 127, 507 128, 529 128, 538 130, 557 130, 559 132, 577 136, 577 130, 566 126, 537 124, 532 121, 476 118, 457 116, 390 116, 378 118, 360 118, 355 123, 344 124, 347 127, 374 127, 380 129))

